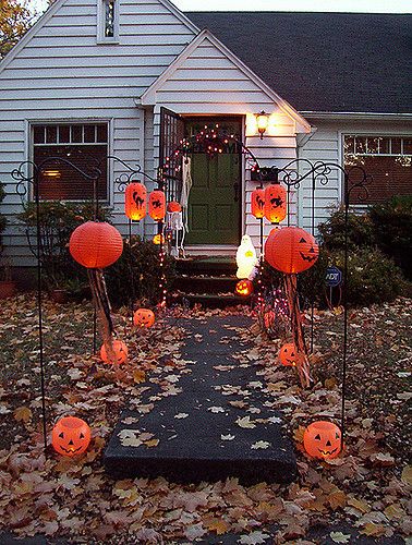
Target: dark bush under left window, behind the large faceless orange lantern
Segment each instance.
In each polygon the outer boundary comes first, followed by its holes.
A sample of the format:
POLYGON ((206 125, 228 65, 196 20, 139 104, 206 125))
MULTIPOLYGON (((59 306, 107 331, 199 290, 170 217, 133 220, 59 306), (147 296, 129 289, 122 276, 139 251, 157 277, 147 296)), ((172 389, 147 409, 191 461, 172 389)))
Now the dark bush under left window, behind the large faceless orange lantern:
MULTIPOLYGON (((72 231, 84 221, 93 219, 93 203, 40 203, 40 261, 48 288, 65 288, 65 284, 70 286, 73 281, 86 281, 85 270, 71 257, 68 244, 72 231)), ((100 220, 107 220, 110 213, 100 207, 97 216, 100 220)), ((29 249, 37 256, 36 204, 27 203, 17 218, 25 225, 29 249)))

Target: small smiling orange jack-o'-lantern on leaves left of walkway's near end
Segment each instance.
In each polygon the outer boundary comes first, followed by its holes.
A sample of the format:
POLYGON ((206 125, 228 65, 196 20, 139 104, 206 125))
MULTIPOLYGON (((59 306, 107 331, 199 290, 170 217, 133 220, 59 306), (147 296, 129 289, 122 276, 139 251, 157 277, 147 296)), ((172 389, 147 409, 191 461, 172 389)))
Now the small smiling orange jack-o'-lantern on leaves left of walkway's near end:
POLYGON ((59 455, 75 456, 87 450, 90 443, 90 428, 76 416, 60 419, 51 432, 51 444, 59 455))

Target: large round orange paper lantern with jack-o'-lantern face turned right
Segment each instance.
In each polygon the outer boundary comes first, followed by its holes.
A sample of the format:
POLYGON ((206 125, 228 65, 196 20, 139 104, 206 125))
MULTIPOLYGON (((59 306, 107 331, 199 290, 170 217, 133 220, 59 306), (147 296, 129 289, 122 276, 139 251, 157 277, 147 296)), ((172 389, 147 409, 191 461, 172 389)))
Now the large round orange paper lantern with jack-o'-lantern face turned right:
POLYGON ((311 268, 318 255, 315 238, 300 227, 272 229, 265 244, 265 259, 287 275, 311 268))

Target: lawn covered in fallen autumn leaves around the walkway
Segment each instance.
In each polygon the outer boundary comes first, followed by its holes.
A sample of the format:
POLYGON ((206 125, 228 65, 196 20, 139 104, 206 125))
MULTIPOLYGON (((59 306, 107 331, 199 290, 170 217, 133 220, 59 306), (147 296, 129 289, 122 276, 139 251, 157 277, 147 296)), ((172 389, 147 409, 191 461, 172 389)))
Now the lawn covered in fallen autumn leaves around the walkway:
MULTIPOLYGON (((219 311, 213 311, 213 314, 219 311)), ((277 363, 278 341, 258 328, 237 334, 254 347, 235 360, 256 366, 267 403, 286 414, 296 441, 299 479, 289 486, 243 487, 235 480, 177 485, 159 477, 116 481, 101 453, 128 400, 144 413, 179 390, 190 373, 181 359, 184 331, 179 316, 207 318, 202 311, 174 311, 144 335, 132 332, 126 313, 116 315, 128 337, 130 362, 114 370, 92 356, 92 308, 46 303, 46 373, 49 425, 74 413, 93 428, 86 455, 74 460, 43 452, 35 299, 3 301, 0 310, 0 524, 19 535, 44 533, 105 543, 171 543, 207 540, 210 534, 239 535, 239 543, 312 543, 311 528, 350 522, 367 536, 408 535, 412 530, 410 492, 410 375, 412 302, 352 311, 349 327, 347 449, 328 463, 302 451, 303 426, 314 419, 340 416, 342 315, 316 314, 314 385, 302 390, 293 370, 277 363), (172 377, 172 378, 170 378, 172 377), (141 397, 154 388, 148 402, 141 397), (301 542, 300 542, 301 540, 301 542)), ((203 339, 198 339, 202 342, 203 339)), ((259 384, 258 384, 259 383, 259 384)), ((230 385, 228 385, 228 388, 230 385)), ((238 393, 241 427, 258 419, 238 393)), ((211 412, 225 408, 210 407, 211 412)), ((184 413, 177 415, 185 419, 184 413)), ((156 448, 153 437, 135 437, 156 448), (152 443, 150 443, 152 441, 152 443)), ((235 440, 233 436, 222 440, 235 440)), ((264 449, 257 441, 256 449, 264 449)), ((335 543, 349 534, 332 531, 335 543)))

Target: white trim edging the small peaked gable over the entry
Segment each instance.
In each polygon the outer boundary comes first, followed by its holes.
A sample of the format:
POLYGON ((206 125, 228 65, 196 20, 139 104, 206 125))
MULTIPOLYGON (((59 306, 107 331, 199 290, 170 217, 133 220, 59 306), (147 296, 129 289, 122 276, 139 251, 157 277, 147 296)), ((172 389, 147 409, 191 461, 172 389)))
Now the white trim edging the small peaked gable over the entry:
POLYGON ((298 132, 310 132, 310 123, 283 98, 281 98, 277 93, 275 93, 260 77, 258 77, 252 70, 244 64, 235 55, 233 55, 230 49, 228 49, 221 41, 219 41, 207 28, 202 31, 174 59, 174 61, 169 64, 169 66, 162 72, 159 77, 148 87, 142 95, 140 102, 142 105, 154 105, 156 104, 156 92, 161 89, 163 84, 170 80, 172 74, 182 66, 184 61, 195 51, 204 41, 210 43, 216 47, 225 57, 227 57, 247 78, 250 78, 256 87, 263 90, 266 96, 272 100, 287 116, 292 118, 296 123, 298 132))

